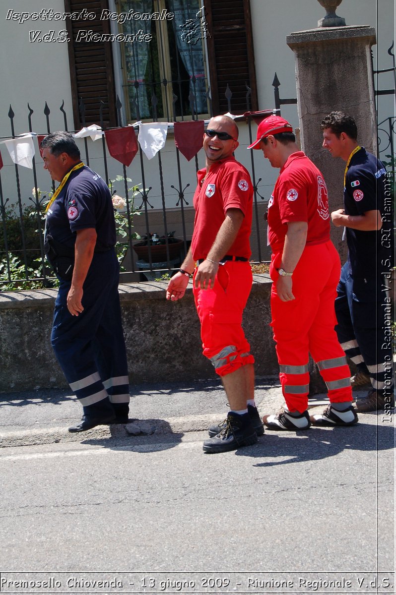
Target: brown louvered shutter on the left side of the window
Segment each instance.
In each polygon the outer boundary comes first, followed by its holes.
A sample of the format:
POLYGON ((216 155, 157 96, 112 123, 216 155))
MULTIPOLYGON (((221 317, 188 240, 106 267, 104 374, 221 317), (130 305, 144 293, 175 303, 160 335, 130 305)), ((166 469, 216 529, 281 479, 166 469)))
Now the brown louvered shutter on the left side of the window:
POLYGON ((85 104, 85 124, 100 124, 100 102, 104 125, 116 126, 114 97, 113 57, 111 42, 76 42, 79 30, 93 33, 110 33, 110 21, 100 20, 102 9, 108 8, 107 0, 65 0, 66 12, 82 12, 84 9, 96 14, 95 20, 73 21, 66 19, 67 44, 70 64, 71 97, 73 101, 74 127, 83 126, 79 103, 85 104))

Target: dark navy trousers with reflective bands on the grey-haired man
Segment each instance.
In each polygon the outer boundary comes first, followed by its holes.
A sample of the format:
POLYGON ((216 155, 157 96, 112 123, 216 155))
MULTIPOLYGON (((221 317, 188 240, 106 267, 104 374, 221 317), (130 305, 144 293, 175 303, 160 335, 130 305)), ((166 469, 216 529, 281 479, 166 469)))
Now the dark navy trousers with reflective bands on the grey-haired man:
POLYGON ((70 281, 60 282, 55 301, 51 344, 66 380, 95 417, 129 412, 129 379, 118 292, 116 252, 94 253, 83 285, 83 312, 67 309, 70 281))

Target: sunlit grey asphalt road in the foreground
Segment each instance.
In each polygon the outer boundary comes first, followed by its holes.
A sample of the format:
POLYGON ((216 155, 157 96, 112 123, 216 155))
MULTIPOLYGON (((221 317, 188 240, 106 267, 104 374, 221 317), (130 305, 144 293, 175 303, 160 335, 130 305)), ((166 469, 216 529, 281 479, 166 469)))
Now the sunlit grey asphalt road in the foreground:
POLYGON ((202 452, 206 436, 1 449, 1 591, 27 592, 24 579, 32 593, 394 593, 394 427, 381 413, 221 455, 202 452))

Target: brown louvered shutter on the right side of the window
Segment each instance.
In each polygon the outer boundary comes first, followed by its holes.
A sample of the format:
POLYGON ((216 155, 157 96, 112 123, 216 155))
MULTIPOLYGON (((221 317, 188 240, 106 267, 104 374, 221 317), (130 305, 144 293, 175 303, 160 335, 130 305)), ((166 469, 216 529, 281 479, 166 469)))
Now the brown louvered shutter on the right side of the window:
POLYGON ((208 62, 213 113, 228 111, 227 84, 232 91, 233 114, 247 111, 247 88, 251 88, 250 109, 258 109, 254 69, 253 38, 249 0, 204 0, 208 32, 208 62))

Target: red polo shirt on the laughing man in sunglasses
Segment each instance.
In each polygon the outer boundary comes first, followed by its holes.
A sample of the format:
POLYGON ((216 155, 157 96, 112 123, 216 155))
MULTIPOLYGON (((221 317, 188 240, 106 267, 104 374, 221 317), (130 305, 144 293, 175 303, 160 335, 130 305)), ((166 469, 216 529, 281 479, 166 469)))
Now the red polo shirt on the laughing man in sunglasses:
POLYGON ((250 258, 253 184, 247 169, 229 157, 211 165, 208 173, 205 168, 199 170, 197 177, 192 257, 195 261, 207 257, 227 209, 236 208, 241 209, 245 217, 227 254, 250 258))

